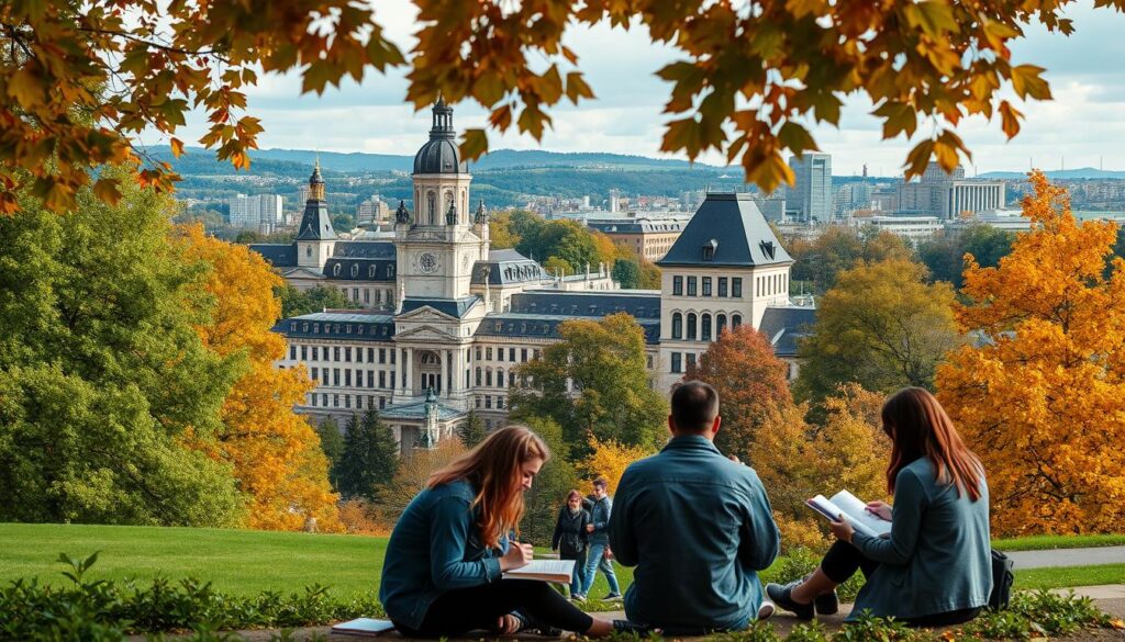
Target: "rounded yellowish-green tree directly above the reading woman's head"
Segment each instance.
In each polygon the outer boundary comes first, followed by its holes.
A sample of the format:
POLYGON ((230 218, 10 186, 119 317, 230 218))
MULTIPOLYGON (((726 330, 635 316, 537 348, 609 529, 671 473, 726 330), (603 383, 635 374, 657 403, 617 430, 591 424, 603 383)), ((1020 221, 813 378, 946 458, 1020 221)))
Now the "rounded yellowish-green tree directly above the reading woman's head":
POLYGON ((910 261, 861 264, 820 298, 796 390, 819 401, 852 381, 878 392, 933 388, 934 370, 960 342, 948 283, 927 284, 926 268, 910 261))

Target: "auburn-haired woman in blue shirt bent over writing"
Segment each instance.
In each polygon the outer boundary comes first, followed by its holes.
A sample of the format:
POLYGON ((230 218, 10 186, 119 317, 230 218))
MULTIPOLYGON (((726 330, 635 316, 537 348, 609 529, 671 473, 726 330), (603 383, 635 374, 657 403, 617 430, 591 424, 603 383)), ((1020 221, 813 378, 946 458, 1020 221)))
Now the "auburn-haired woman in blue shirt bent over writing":
POLYGON ((508 533, 549 458, 539 436, 507 426, 430 477, 395 524, 382 563, 379 600, 403 635, 480 629, 558 635, 561 629, 595 638, 614 630, 546 582, 503 578, 531 561, 531 545, 508 533))

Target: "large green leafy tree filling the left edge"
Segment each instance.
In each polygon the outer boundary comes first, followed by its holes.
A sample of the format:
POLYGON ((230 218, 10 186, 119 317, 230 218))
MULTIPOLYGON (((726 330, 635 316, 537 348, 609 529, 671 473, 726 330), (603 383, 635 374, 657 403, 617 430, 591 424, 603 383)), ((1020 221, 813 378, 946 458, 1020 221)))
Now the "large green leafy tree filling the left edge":
MULTIPOLYGON (((127 178, 107 169, 106 178, 127 178)), ((235 525, 210 438, 244 367, 206 349, 206 265, 172 238, 170 198, 123 180, 65 218, 24 197, 0 217, 0 519, 235 525)))

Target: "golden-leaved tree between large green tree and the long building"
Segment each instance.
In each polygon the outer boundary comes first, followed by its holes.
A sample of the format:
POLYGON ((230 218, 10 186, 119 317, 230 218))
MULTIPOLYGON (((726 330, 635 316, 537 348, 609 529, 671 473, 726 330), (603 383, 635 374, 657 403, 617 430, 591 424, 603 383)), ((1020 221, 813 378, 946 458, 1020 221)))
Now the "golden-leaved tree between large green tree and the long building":
POLYGON ((220 355, 242 353, 246 370, 223 404, 214 438, 189 445, 233 464, 246 495, 246 525, 299 530, 315 517, 324 531, 340 528, 339 499, 328 485, 328 463, 312 426, 296 413, 310 389, 304 369, 279 369, 285 340, 271 332, 281 314, 273 297, 280 283, 258 254, 204 235, 199 226, 183 230, 187 254, 210 265, 206 289, 214 298, 209 323, 200 326, 204 343, 220 355))

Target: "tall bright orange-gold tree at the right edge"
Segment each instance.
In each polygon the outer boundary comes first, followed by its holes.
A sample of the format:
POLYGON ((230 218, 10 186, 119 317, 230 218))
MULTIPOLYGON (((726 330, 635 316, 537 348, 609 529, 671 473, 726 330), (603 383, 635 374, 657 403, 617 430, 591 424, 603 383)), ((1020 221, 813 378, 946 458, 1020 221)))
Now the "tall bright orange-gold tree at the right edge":
POLYGON ((956 318, 974 345, 937 372, 939 398, 982 458, 996 532, 1125 524, 1125 261, 1117 226, 1079 224, 1032 174, 1034 221, 996 268, 966 257, 956 318), (1108 275, 1107 275, 1108 272, 1108 275))

